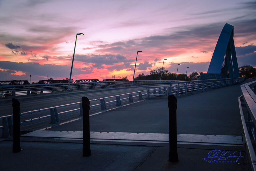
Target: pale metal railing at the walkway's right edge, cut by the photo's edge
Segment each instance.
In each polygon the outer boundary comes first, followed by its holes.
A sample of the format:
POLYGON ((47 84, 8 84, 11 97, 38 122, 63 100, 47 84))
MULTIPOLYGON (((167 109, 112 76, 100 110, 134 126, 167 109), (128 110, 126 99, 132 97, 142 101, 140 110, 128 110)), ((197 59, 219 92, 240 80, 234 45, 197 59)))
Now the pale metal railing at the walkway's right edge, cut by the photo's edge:
POLYGON ((243 125, 243 144, 250 161, 251 170, 256 170, 256 81, 241 85, 242 95, 238 98, 243 125), (243 114, 244 112, 247 115, 243 114))

